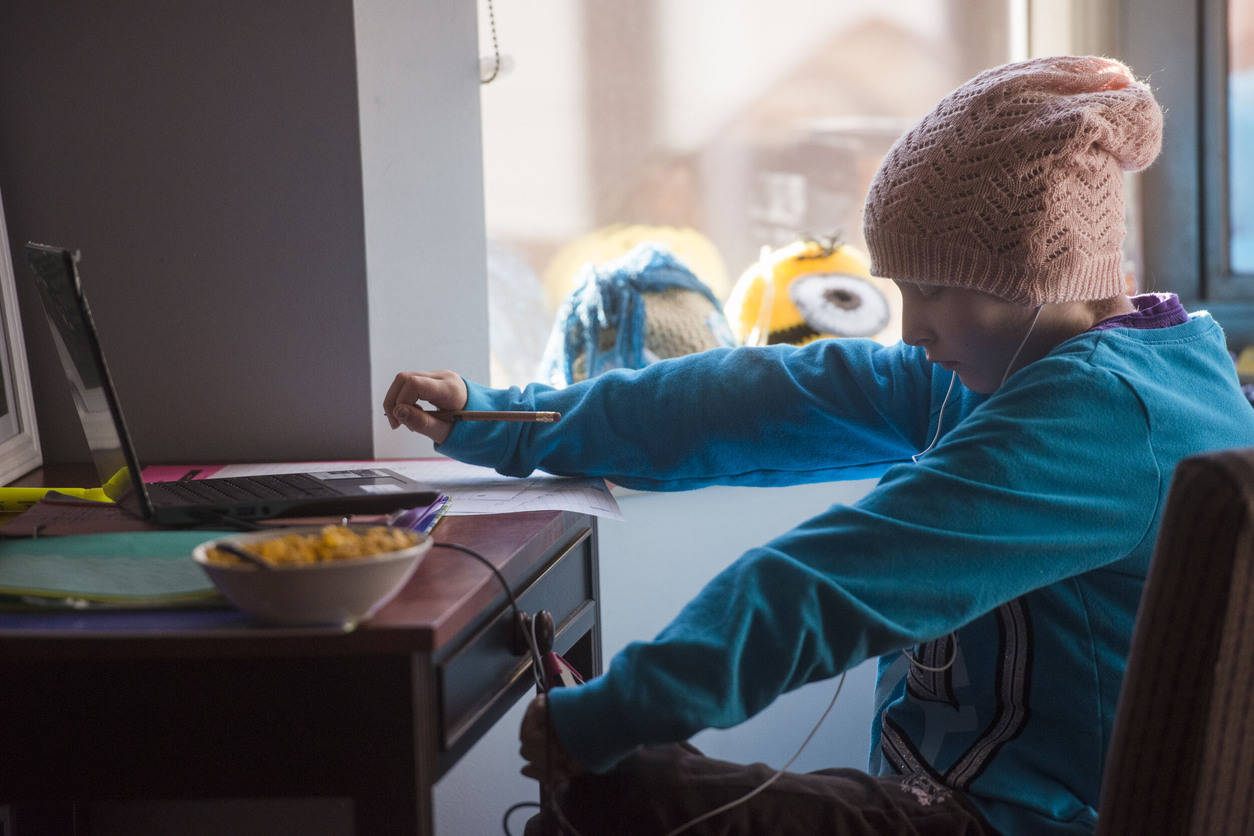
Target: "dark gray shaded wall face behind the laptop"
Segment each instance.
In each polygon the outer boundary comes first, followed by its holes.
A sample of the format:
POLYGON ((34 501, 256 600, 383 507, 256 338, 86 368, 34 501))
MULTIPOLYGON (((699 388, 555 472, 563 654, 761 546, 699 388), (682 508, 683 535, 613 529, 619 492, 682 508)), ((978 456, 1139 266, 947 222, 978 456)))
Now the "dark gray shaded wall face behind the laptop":
POLYGON ((142 460, 371 455, 356 114, 350 0, 5 4, 0 193, 46 460, 87 450, 30 239, 82 249, 142 460))

